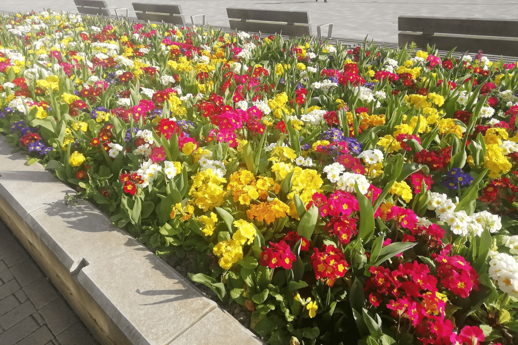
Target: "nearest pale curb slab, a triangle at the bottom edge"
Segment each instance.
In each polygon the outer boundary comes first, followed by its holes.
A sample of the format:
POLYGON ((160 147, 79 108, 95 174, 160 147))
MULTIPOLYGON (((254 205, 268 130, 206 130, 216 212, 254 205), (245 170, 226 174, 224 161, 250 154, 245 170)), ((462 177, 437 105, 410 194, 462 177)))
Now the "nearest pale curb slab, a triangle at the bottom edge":
POLYGON ((264 345, 231 314, 215 308, 171 342, 171 345, 264 345))

